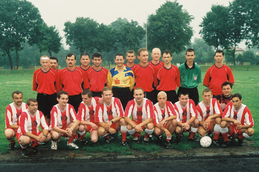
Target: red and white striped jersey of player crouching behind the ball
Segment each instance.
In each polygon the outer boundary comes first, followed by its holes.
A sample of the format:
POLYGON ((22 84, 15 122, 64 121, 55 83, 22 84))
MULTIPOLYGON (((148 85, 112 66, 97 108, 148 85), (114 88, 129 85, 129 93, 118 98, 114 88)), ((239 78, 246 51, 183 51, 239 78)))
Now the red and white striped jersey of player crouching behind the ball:
POLYGON ((197 104, 196 110, 198 114, 198 120, 203 122, 206 121, 209 116, 214 115, 215 113, 222 116, 222 110, 216 98, 211 98, 209 105, 205 105, 203 101, 201 101, 199 104, 197 104))

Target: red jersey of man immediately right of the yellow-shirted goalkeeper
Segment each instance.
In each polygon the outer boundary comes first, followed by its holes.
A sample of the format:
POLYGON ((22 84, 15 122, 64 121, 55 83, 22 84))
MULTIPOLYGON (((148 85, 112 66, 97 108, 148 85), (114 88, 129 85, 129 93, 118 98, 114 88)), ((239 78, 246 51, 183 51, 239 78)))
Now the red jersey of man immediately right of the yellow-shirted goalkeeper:
POLYGON ((132 71, 134 73, 136 83, 134 89, 140 87, 144 92, 151 92, 154 90, 152 87, 154 83, 154 69, 149 64, 146 66, 138 64, 132 68, 132 71))

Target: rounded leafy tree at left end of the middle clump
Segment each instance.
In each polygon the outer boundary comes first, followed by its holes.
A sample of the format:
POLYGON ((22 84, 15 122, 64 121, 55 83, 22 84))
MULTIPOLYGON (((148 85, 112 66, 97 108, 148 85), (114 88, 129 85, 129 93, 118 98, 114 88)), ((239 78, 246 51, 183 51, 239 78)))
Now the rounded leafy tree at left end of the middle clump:
POLYGON ((89 17, 77 17, 74 23, 65 22, 65 38, 68 45, 74 45, 80 53, 98 48, 98 22, 89 17))

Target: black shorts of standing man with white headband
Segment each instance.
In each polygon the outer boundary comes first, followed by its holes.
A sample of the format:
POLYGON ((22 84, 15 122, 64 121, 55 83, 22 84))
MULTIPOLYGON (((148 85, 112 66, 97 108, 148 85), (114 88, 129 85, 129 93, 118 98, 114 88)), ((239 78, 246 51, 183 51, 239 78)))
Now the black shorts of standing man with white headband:
POLYGON ((47 119, 50 119, 50 111, 53 106, 58 104, 57 93, 48 95, 44 93, 37 94, 38 110, 41 111, 47 119))

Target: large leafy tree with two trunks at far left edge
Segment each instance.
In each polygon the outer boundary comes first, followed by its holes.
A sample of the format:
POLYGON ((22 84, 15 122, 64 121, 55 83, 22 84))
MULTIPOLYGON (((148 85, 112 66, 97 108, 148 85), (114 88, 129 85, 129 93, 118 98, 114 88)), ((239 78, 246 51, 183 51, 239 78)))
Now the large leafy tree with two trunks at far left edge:
POLYGON ((31 39, 30 33, 42 23, 38 8, 31 2, 0 0, 0 48, 7 54, 11 69, 13 69, 11 51, 16 52, 18 68, 18 52, 23 49, 22 43, 26 42, 26 39, 31 39))

